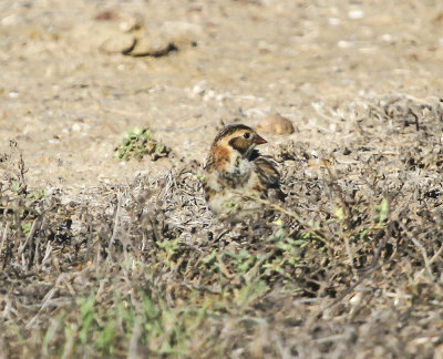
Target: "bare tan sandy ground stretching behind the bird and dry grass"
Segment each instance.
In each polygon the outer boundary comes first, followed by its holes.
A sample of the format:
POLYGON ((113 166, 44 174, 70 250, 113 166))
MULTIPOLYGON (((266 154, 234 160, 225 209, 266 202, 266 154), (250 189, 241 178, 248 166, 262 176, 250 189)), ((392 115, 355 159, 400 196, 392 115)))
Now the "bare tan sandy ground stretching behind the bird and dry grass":
POLYGON ((31 185, 71 191, 203 161, 222 122, 256 125, 276 112, 297 131, 267 150, 288 140, 328 148, 348 120, 328 111, 441 95, 442 25, 437 1, 3 0, 1 150, 16 139, 31 185), (135 38, 178 50, 122 54, 135 38), (113 158, 134 126, 175 155, 113 158))

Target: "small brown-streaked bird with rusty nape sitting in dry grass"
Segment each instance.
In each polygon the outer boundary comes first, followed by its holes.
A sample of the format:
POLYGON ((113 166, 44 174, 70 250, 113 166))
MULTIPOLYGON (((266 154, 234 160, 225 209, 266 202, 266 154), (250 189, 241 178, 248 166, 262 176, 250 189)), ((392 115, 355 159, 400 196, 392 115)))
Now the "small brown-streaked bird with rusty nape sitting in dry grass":
POLYGON ((285 199, 276 164, 256 150, 265 143, 264 137, 244 124, 227 125, 216 135, 203 181, 206 202, 216 215, 241 218, 262 207, 262 201, 255 198, 285 199))

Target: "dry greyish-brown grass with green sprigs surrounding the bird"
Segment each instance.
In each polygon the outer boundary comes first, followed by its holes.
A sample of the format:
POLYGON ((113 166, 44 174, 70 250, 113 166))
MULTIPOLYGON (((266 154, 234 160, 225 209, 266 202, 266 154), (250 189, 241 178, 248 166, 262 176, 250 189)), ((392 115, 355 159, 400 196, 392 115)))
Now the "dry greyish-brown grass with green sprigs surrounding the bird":
POLYGON ((285 205, 226 225, 198 164, 72 199, 2 156, 0 356, 443 355, 443 106, 317 109, 329 151, 276 150, 285 205))

